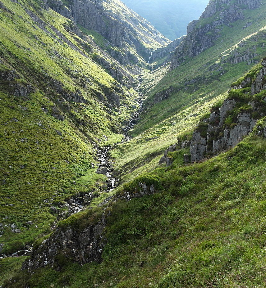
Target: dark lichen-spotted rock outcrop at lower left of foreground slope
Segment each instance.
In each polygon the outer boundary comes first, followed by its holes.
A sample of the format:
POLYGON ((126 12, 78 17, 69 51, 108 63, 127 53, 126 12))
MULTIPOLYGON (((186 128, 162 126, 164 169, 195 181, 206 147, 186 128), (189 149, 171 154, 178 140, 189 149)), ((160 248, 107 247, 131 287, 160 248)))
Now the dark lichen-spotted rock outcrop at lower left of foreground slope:
POLYGON ((22 264, 22 270, 32 272, 34 269, 49 265, 60 271, 57 258, 61 255, 81 265, 92 261, 100 263, 103 248, 107 243, 103 230, 106 227, 106 217, 110 214, 110 211, 107 216, 103 214, 96 225, 86 226, 81 231, 72 227, 57 228, 48 239, 32 251, 31 257, 22 264))

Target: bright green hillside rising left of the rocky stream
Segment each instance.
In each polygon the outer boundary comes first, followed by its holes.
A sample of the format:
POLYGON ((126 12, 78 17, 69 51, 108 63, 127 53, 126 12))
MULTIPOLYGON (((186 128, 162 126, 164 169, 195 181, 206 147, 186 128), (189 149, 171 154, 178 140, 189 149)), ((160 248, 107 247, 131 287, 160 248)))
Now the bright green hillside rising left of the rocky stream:
POLYGON ((121 141, 138 95, 129 86, 137 76, 71 32, 70 20, 34 1, 4 0, 0 10, 0 223, 22 231, 1 235, 10 253, 50 232, 50 206, 106 180, 91 164, 95 145, 121 141), (109 74, 116 68, 128 88, 109 74))

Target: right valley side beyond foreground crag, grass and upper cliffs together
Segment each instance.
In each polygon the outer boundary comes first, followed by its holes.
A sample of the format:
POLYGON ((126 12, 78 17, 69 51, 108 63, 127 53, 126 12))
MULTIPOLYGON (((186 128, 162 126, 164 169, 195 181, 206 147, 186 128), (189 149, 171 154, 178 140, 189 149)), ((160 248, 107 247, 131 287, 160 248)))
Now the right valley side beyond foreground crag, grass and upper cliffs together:
POLYGON ((161 154, 176 143, 176 137, 193 129, 201 115, 225 99, 232 81, 262 60, 265 9, 264 1, 211 1, 199 21, 188 26, 188 35, 172 61, 158 58, 151 63, 159 68, 143 77, 146 109, 131 132, 134 138, 112 151, 120 159, 116 169, 124 174, 123 180, 143 169, 156 168, 161 154), (234 19, 227 20, 231 9, 234 19), (214 14, 209 15, 209 11, 214 14), (212 39, 209 48, 202 39, 212 39), (170 69, 173 63, 180 65, 170 69))

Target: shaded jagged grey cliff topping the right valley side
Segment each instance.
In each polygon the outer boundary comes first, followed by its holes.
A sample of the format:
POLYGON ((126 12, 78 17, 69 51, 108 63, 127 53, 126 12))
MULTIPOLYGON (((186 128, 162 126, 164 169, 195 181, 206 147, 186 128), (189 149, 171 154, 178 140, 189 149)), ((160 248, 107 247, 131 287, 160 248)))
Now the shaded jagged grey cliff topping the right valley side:
POLYGON ((259 0, 210 1, 199 20, 194 20, 188 25, 187 36, 174 53, 170 71, 186 61, 187 57, 194 57, 212 47, 220 37, 219 33, 224 25, 230 27, 230 23, 243 19, 243 11, 258 8, 260 2, 259 0))

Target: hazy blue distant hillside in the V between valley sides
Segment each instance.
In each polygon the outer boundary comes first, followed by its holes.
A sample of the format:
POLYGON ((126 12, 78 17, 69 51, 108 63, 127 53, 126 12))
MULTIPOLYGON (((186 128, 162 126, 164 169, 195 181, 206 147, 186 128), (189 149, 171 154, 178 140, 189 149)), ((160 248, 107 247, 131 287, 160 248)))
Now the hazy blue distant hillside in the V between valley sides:
POLYGON ((123 0, 170 40, 186 34, 186 26, 198 19, 209 0, 123 0))

